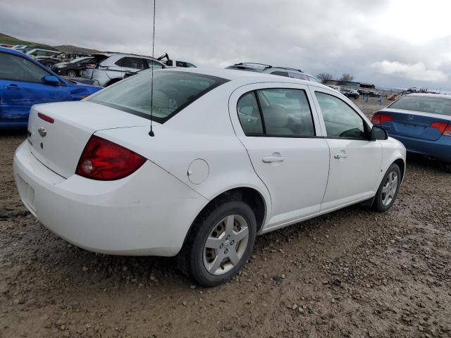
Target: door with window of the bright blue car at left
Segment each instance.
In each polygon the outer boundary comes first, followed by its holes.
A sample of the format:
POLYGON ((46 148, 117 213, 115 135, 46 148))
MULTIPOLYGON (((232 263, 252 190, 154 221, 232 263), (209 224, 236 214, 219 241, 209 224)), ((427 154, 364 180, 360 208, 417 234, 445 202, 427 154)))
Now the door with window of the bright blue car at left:
POLYGON ((33 104, 68 101, 66 84, 45 84, 42 78, 53 75, 22 56, 0 53, 1 121, 27 122, 33 104))

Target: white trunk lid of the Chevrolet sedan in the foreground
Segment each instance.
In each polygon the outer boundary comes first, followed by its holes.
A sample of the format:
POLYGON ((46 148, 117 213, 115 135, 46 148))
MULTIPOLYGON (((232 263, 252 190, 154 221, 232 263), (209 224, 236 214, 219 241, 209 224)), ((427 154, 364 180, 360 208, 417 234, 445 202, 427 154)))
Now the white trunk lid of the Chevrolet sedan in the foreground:
POLYGON ((150 125, 150 120, 89 101, 39 104, 28 120, 32 154, 58 175, 70 177, 89 137, 97 130, 150 125), (39 113, 54 120, 49 123, 39 113))

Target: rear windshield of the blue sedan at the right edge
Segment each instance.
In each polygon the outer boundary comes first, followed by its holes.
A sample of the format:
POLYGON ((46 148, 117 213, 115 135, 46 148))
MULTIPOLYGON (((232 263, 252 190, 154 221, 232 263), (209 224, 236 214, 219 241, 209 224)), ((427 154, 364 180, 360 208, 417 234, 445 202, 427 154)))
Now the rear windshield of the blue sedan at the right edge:
POLYGON ((402 96, 401 99, 393 102, 388 108, 451 115, 451 98, 442 99, 439 97, 428 96, 402 96))

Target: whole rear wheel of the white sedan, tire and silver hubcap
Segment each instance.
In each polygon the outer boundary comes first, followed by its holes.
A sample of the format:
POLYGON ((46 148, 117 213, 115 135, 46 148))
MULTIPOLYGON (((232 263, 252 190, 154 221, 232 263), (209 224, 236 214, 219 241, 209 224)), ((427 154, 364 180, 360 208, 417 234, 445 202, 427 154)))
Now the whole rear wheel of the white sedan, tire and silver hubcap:
POLYGON ((228 282, 245 265, 254 246, 257 222, 242 201, 207 207, 192 225, 179 253, 180 268, 205 287, 228 282))

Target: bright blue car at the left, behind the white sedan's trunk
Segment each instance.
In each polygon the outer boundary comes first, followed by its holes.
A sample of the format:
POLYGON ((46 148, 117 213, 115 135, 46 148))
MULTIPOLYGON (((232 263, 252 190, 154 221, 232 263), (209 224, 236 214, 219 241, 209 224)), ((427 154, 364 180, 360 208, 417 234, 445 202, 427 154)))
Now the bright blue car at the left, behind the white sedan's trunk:
POLYGON ((27 127, 33 104, 78 101, 100 89, 64 80, 30 56, 0 47, 0 129, 27 127))

